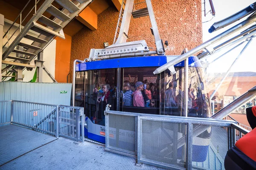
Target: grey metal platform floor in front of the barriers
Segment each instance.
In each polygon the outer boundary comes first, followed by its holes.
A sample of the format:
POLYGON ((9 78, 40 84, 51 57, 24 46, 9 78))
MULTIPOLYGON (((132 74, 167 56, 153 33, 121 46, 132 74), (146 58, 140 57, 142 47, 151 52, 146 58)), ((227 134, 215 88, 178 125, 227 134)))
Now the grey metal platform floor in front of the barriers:
POLYGON ((134 157, 105 151, 104 146, 90 142, 77 144, 15 125, 0 127, 0 170, 162 169, 146 164, 138 167, 135 163, 134 157))

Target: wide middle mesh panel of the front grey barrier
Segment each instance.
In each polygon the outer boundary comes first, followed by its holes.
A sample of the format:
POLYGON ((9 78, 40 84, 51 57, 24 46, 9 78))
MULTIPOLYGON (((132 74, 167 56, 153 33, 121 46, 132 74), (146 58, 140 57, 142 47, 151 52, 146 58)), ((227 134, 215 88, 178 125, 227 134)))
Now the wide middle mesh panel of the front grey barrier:
POLYGON ((142 120, 141 159, 186 167, 186 144, 177 141, 187 134, 186 123, 142 120))

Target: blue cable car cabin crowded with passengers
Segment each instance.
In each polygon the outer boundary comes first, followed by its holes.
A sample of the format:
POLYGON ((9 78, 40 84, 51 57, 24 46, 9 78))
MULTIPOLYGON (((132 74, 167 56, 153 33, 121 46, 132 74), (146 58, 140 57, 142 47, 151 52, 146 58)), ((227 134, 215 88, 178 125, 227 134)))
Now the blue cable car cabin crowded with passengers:
MULTIPOLYGON (((114 111, 184 116, 184 62, 170 68, 172 71, 153 74, 176 57, 129 57, 76 65, 75 105, 84 107, 85 136, 105 143, 107 104, 114 111)), ((204 76, 198 58, 189 57, 188 116, 211 116, 204 76)))

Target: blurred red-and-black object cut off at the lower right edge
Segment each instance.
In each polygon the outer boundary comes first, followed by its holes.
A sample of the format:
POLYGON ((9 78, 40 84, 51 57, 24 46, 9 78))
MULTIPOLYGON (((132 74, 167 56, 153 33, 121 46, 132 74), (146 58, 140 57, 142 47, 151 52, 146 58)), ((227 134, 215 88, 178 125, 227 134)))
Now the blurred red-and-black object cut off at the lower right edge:
POLYGON ((246 108, 246 116, 253 130, 227 151, 226 170, 256 170, 256 106, 246 108))

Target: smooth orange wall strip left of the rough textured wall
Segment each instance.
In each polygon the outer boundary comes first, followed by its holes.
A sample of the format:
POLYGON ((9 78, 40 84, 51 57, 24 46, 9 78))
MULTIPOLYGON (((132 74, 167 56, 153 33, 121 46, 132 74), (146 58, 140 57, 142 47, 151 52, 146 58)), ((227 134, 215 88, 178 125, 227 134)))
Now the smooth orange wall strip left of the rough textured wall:
POLYGON ((65 34, 65 40, 56 37, 55 79, 57 82, 67 82, 70 71, 70 54, 72 37, 65 34))

